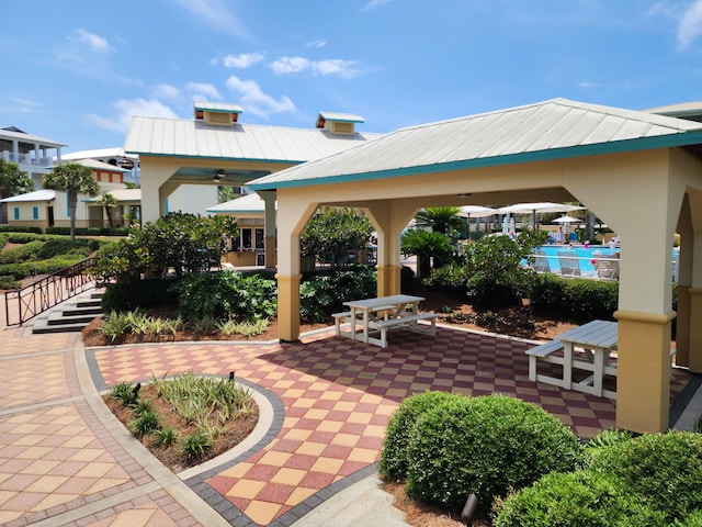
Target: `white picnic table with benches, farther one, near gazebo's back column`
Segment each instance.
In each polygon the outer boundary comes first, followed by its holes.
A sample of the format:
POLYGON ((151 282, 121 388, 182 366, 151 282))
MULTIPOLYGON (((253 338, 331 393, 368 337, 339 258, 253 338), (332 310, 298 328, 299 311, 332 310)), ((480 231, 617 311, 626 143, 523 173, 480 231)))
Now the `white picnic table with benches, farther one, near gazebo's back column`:
POLYGON ((405 327, 416 333, 435 335, 437 315, 433 313, 419 313, 419 303, 422 296, 410 294, 393 294, 374 299, 350 300, 343 302, 349 307, 348 312, 335 313, 337 335, 361 340, 365 344, 374 344, 387 347, 387 330, 405 327), (429 327, 422 327, 419 321, 429 321, 429 327), (361 325, 361 332, 358 325, 361 325), (378 338, 371 336, 378 333, 378 338))

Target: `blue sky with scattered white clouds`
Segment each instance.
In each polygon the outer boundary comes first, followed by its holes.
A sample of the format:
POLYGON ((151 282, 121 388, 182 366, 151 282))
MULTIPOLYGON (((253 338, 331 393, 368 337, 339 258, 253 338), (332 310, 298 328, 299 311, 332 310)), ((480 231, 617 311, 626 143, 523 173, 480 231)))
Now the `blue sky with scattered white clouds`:
POLYGON ((564 97, 702 101, 702 0, 3 2, 0 127, 122 146, 132 115, 390 132, 564 97))

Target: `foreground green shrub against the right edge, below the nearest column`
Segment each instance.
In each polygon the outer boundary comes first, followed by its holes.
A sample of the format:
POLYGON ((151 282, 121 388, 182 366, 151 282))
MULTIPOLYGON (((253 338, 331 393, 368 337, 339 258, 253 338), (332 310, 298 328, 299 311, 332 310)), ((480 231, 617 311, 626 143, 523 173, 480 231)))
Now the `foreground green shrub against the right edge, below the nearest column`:
POLYGON ((702 509, 700 434, 646 434, 602 449, 591 470, 619 478, 643 503, 665 512, 669 522, 702 509))

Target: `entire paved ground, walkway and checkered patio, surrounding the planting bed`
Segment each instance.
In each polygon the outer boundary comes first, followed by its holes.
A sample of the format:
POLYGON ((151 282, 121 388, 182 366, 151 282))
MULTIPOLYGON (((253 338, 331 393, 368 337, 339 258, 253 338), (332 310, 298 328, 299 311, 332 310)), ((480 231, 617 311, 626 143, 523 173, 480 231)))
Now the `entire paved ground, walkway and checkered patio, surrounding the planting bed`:
MULTIPOLYGON (((398 337, 387 349, 331 329, 294 344, 84 349, 77 334, 2 328, 0 524, 347 525, 335 523, 339 506, 319 505, 373 479, 389 415, 424 390, 519 396, 582 437, 614 424, 609 400, 530 382, 524 341, 445 327, 435 339, 398 337), (256 389, 262 425, 227 458, 174 475, 106 411, 100 391, 188 370, 234 371, 256 389)), ((671 397, 688 385, 679 400, 689 401, 689 380, 676 371, 671 397)))

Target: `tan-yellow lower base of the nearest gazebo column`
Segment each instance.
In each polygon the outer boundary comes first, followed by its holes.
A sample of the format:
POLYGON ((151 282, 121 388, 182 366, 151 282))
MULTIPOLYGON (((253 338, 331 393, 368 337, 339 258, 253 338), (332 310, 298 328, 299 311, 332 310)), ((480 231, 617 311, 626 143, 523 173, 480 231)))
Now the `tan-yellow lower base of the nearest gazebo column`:
POLYGON ((618 311, 616 426, 637 433, 668 428, 670 326, 675 312, 618 311))

